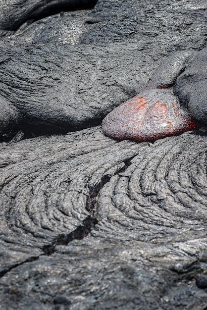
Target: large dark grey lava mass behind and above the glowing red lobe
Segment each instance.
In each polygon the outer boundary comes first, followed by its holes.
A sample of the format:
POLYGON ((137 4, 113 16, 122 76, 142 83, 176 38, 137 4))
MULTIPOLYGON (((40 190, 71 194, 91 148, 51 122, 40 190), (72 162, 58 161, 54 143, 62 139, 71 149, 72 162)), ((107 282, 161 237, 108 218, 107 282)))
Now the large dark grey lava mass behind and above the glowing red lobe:
POLYGON ((97 125, 146 86, 169 52, 206 45, 206 1, 151 2, 101 0, 85 16, 65 12, 31 24, 26 14, 0 40, 1 139, 19 129, 97 125))

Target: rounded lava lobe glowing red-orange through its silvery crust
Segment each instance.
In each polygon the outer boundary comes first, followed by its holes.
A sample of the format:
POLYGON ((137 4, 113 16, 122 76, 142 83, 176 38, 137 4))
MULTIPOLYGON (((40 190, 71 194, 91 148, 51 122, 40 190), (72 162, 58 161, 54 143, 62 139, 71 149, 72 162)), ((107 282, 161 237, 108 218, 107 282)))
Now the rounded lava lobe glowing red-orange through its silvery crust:
POLYGON ((103 120, 106 135, 137 141, 157 140, 196 128, 170 89, 145 89, 103 120))

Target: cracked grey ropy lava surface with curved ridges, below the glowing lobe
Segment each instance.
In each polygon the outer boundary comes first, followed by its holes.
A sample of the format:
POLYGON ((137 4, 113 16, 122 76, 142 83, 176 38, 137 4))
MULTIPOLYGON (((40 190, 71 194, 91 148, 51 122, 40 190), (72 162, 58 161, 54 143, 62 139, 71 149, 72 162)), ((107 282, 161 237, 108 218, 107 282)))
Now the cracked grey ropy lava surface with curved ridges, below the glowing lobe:
POLYGON ((204 310, 206 151, 100 127, 2 143, 1 308, 204 310))

